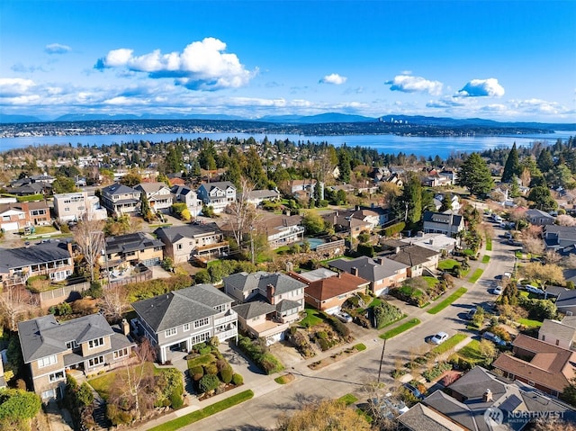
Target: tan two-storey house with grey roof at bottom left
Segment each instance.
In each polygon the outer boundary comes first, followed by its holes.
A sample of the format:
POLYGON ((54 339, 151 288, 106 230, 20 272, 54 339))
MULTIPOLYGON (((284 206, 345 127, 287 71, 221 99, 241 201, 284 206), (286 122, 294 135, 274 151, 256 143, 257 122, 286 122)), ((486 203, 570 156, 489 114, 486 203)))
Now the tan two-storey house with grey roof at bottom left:
POLYGON ((18 323, 23 362, 42 401, 61 399, 67 370, 97 373, 125 364, 135 343, 124 320, 112 328, 102 314, 58 323, 49 314, 18 323))

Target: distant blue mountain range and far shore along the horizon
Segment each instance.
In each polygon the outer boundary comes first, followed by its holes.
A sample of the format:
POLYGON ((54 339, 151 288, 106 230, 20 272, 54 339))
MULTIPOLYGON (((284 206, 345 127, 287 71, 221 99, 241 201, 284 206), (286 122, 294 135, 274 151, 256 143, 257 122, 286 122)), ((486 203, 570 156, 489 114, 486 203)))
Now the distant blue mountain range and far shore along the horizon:
POLYGON ((482 118, 455 119, 445 117, 425 117, 422 115, 384 115, 382 117, 365 117, 338 112, 327 112, 319 115, 268 115, 258 119, 246 119, 226 114, 187 114, 187 115, 134 115, 134 114, 75 114, 61 115, 55 119, 40 118, 31 115, 10 115, 0 113, 0 123, 26 122, 74 122, 74 121, 130 121, 130 120, 217 120, 217 121, 252 121, 276 124, 325 124, 325 123, 358 123, 384 122, 395 124, 412 124, 419 126, 462 127, 485 126, 499 128, 533 128, 548 130, 576 130, 576 123, 542 123, 542 122, 502 122, 482 118))

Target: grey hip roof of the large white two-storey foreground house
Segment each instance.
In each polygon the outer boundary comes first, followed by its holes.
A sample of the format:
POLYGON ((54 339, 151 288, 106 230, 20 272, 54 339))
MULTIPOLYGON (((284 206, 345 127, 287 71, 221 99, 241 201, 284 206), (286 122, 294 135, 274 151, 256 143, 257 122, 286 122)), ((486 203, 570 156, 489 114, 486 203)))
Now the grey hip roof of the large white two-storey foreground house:
POLYGON ((132 303, 132 307, 156 332, 218 314, 214 307, 232 302, 211 284, 196 284, 179 291, 132 303))

